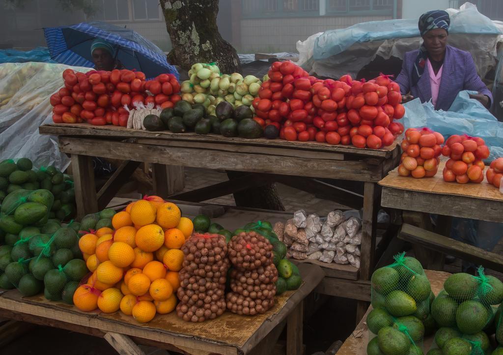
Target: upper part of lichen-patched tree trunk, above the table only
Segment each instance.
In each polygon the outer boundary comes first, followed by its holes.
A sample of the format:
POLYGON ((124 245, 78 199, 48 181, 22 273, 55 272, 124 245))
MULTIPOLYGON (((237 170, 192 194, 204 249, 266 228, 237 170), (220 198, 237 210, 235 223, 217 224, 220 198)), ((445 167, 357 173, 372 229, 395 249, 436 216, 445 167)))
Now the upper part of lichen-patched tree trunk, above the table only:
POLYGON ((236 50, 218 32, 218 0, 160 0, 160 5, 173 45, 168 62, 187 70, 216 62, 221 73, 240 71, 236 50))

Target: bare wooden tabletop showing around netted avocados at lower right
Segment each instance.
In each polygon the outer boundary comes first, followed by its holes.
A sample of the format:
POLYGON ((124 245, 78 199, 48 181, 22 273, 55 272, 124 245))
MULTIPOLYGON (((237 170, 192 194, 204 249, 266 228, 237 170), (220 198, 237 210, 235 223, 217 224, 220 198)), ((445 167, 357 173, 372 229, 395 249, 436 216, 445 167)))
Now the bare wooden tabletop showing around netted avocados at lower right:
MULTIPOLYGON (((444 281, 451 275, 448 272, 443 271, 433 271, 425 270, 428 279, 430 280, 432 291, 437 296, 440 291, 444 288, 444 281)), ((355 330, 346 339, 343 346, 337 351, 338 355, 366 355, 367 354, 367 344, 369 342, 369 328, 367 327, 366 319, 367 315, 372 310, 370 306, 365 313, 363 319, 358 323, 355 330)), ((424 352, 428 352, 433 341, 433 336, 426 337, 423 341, 424 352)))

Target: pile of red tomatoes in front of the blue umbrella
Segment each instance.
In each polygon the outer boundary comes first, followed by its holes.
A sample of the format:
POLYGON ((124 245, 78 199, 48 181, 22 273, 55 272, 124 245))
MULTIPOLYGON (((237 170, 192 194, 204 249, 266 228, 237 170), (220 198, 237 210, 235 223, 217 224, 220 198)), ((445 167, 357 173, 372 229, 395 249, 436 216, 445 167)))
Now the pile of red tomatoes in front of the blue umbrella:
POLYGON ((143 73, 127 69, 90 70, 86 74, 66 69, 63 82, 64 87, 50 98, 54 123, 87 121, 125 127, 129 112, 124 106, 132 109, 134 104, 152 102, 165 108, 182 99, 178 95, 180 84, 173 74, 146 81, 143 73))

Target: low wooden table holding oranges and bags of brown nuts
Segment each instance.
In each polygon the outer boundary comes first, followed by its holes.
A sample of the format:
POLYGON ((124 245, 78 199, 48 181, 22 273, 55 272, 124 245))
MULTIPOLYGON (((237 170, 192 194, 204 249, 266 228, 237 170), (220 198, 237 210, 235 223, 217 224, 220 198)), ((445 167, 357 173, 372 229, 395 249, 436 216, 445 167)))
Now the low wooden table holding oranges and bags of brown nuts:
POLYGON ((42 295, 21 297, 17 290, 0 292, 0 316, 104 337, 120 353, 128 354, 141 353, 136 343, 195 355, 264 354, 286 324, 287 353, 300 355, 303 300, 321 281, 323 272, 308 264, 299 265, 299 270, 304 280, 301 287, 276 297, 269 312, 253 317, 225 312, 215 320, 191 323, 172 312, 140 324, 121 312, 81 312, 74 306, 49 302, 42 295))

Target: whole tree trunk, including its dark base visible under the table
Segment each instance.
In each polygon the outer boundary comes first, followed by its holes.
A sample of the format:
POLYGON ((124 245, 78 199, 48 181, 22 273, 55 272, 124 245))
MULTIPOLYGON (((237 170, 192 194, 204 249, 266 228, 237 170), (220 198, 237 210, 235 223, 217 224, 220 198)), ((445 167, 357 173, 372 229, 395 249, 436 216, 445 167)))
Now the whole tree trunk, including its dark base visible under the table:
MULTIPOLYGON (((186 70, 194 63, 216 62, 221 73, 240 72, 236 50, 218 32, 218 0, 160 0, 160 5, 173 45, 168 62, 186 70)), ((230 180, 240 174, 227 172, 230 180)), ((242 207, 285 210, 274 184, 234 193, 234 200, 242 207)))

